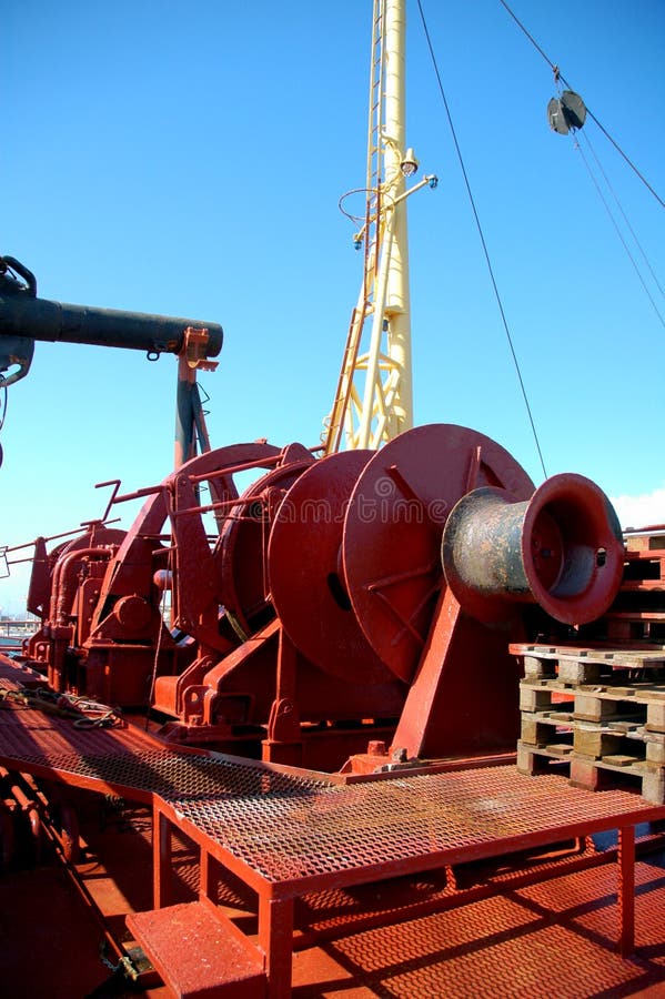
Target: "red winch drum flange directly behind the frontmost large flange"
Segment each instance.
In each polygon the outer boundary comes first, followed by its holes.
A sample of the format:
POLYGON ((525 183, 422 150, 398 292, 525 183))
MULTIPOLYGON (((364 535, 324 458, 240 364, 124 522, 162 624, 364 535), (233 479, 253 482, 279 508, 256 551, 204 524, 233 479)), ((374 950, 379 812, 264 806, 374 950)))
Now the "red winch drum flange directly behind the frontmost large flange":
POLYGON ((340 578, 349 497, 373 451, 323 457, 289 490, 270 535, 272 601, 295 647, 350 683, 384 683, 391 674, 365 639, 340 578))

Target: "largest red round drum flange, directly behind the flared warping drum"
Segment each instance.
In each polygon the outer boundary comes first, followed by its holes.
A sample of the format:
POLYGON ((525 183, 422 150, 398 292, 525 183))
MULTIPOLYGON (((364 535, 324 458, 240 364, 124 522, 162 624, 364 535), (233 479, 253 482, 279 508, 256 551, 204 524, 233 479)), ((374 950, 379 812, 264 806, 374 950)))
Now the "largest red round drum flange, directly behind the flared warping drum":
POLYGON ((457 500, 485 485, 517 500, 534 490, 500 444, 436 423, 386 444, 353 491, 342 548, 346 589, 367 642, 401 679, 413 676, 430 629, 447 516, 457 500))

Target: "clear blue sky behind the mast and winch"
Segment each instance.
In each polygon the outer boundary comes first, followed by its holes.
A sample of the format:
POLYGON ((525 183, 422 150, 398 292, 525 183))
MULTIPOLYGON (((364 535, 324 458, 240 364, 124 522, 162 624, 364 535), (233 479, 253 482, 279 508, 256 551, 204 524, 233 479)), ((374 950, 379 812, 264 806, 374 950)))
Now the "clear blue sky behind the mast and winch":
MULTIPOLYGON (((511 6, 665 196, 665 4, 511 6)), ((222 323, 220 366, 201 376, 214 446, 318 443, 361 280, 337 201, 364 183, 371 7, 23 0, 4 12, 0 252, 44 297, 222 323)), ((498 0, 423 9, 547 473, 638 497, 617 503, 624 525, 663 522, 664 327, 580 153, 548 129, 551 70, 498 0)), ((407 141, 440 178, 409 208, 416 422, 473 426, 540 483, 415 2, 407 59, 407 141)), ((663 209, 595 124, 584 131, 663 285, 663 209)), ((97 482, 161 481, 174 392, 170 356, 38 344, 1 434, 0 544, 100 515, 97 482)), ((24 592, 17 569, 0 607, 24 592)))

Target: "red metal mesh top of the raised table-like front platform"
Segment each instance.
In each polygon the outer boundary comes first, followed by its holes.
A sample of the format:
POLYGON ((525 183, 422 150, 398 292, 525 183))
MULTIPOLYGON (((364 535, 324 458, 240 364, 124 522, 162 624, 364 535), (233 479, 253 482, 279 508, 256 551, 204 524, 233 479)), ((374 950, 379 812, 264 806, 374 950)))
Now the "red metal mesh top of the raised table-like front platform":
POLYGON ((496 852, 500 841, 506 850, 565 838, 574 827, 593 831, 613 820, 665 816, 626 791, 596 795, 557 776, 523 777, 512 766, 303 786, 242 801, 169 800, 178 816, 273 884, 360 869, 400 874, 425 857, 435 866, 446 852, 472 859, 496 852))

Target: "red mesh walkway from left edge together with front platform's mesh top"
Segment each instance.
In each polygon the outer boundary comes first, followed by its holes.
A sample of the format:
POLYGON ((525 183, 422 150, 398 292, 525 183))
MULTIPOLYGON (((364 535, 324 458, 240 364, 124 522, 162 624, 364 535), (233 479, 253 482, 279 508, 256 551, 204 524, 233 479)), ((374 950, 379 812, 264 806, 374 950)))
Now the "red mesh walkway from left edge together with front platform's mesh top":
POLYGON ((665 815, 635 794, 572 788, 512 766, 340 785, 252 761, 169 750, 134 728, 79 729, 33 709, 0 710, 0 761, 84 787, 158 797, 195 838, 268 882, 400 865, 455 850, 487 856, 665 815), (623 821, 622 821, 623 820, 623 821), (543 839, 543 841, 545 841, 543 839), (284 844, 289 849, 284 849, 284 844))

